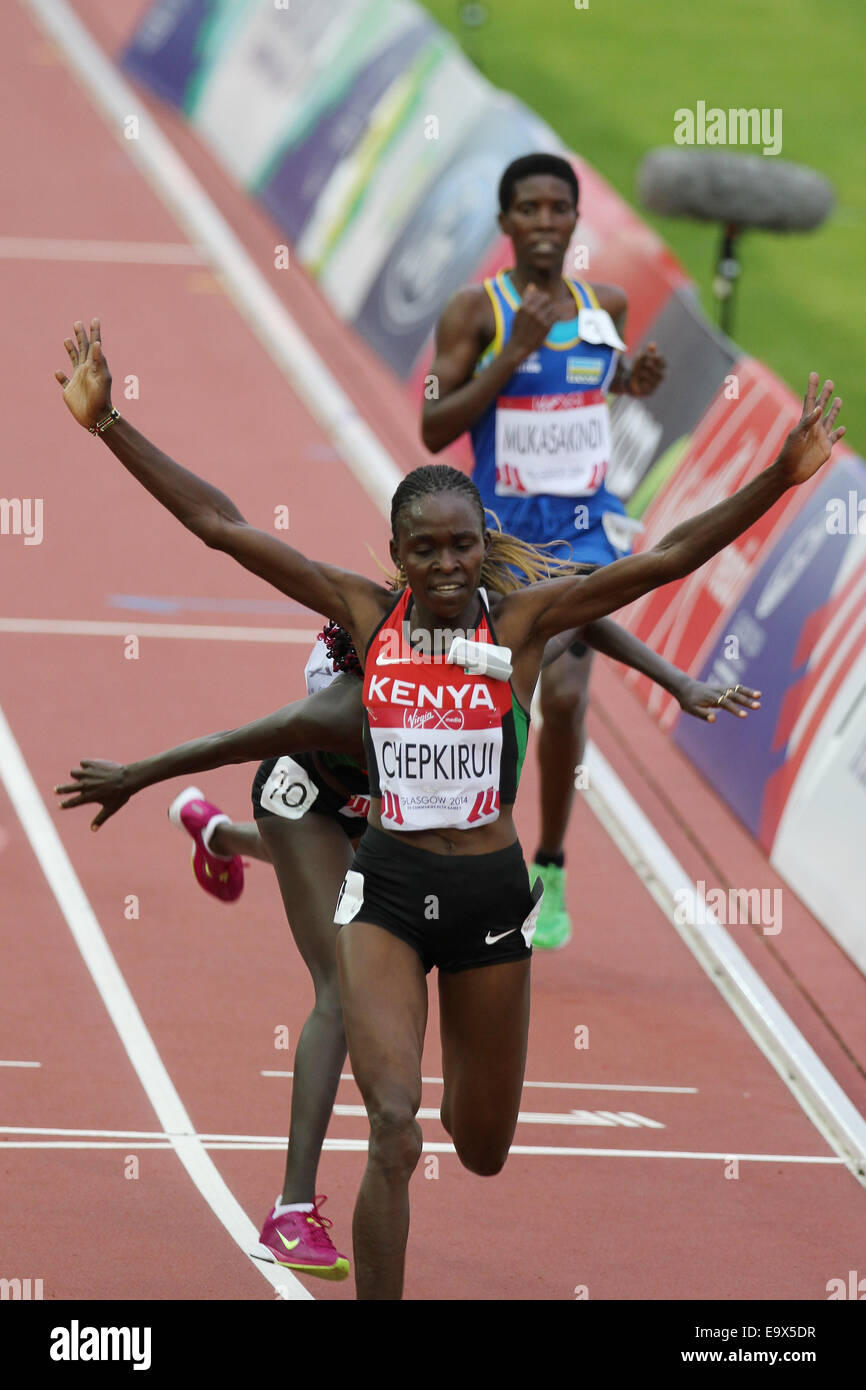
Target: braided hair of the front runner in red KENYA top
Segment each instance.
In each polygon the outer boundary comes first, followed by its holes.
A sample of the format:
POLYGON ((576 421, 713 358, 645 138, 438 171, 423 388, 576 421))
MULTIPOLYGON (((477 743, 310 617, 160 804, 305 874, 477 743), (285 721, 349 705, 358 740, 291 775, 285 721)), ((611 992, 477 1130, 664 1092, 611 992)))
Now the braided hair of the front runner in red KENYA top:
MULTIPOLYGON (((552 555, 555 546, 567 546, 566 541, 530 545, 528 541, 509 535, 507 531, 502 530, 499 517, 493 512, 485 510, 481 493, 473 480, 460 473, 459 468, 452 468, 445 463, 425 463, 420 468, 413 468, 398 486, 391 502, 391 531, 395 539, 403 512, 413 502, 439 492, 456 492, 466 498, 478 513, 481 530, 489 530, 491 548, 481 566, 481 584, 492 594, 512 594, 525 584, 557 580, 569 574, 584 574, 595 569, 595 566, 574 564, 552 555)), ((391 587, 393 589, 406 587, 406 575, 402 570, 393 575, 391 587)))

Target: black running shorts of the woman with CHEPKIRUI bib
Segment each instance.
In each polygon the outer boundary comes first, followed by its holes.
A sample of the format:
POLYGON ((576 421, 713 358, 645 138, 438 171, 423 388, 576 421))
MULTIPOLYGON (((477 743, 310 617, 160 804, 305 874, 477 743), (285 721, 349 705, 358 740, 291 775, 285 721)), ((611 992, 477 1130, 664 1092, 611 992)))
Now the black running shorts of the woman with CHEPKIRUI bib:
POLYGON ((541 906, 520 844, 489 855, 436 855, 367 827, 334 920, 356 917, 406 941, 424 970, 528 960, 541 906))

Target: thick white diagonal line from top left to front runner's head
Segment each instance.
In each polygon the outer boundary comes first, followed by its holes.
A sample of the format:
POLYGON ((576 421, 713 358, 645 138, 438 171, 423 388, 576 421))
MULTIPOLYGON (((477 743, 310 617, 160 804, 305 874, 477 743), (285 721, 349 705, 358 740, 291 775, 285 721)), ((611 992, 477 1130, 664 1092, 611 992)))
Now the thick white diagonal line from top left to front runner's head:
POLYGON ((307 410, 327 430, 361 486, 388 512, 403 477, 361 418, 336 377, 235 236, 234 231, 160 131, 133 88, 93 42, 67 0, 26 0, 78 74, 88 99, 104 117, 121 149, 138 164, 192 242, 207 252, 240 316, 282 370, 307 410), (136 113, 140 139, 122 138, 124 120, 136 113))

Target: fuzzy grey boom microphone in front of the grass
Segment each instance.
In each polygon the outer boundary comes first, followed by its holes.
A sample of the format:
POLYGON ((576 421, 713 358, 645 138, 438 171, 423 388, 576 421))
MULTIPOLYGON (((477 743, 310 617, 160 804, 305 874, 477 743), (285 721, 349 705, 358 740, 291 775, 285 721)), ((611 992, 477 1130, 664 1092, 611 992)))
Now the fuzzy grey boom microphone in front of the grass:
POLYGON ((802 164, 680 149, 646 156, 638 195, 652 213, 770 232, 809 232, 820 227, 834 200, 827 179, 802 164))

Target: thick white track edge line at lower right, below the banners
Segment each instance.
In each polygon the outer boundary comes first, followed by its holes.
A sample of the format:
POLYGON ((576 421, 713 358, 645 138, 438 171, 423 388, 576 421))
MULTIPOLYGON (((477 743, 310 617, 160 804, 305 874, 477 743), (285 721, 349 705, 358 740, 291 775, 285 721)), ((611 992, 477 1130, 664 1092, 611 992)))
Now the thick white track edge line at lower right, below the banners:
POLYGON ((795 1027, 595 744, 585 749, 588 805, 808 1118, 866 1187, 866 1120, 795 1027), (689 922, 683 894, 688 895, 689 922), (699 924, 695 924, 699 923, 699 924))

